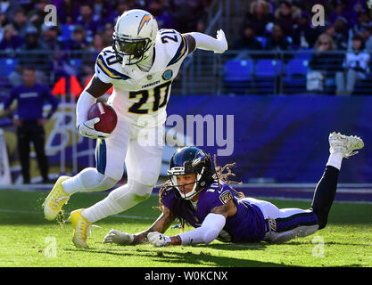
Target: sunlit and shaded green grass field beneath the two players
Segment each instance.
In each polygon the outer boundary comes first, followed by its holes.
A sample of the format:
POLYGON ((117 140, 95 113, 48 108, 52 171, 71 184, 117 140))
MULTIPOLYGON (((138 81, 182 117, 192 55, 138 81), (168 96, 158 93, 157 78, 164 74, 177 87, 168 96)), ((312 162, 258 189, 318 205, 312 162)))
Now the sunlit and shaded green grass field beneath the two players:
MULTIPOLYGON (((112 228, 145 230, 159 216, 157 197, 96 223, 88 250, 72 244, 71 225, 48 222, 41 204, 46 191, 0 191, 0 267, 274 267, 372 266, 372 205, 335 202, 324 230, 284 244, 225 244, 155 248, 153 245, 103 244, 112 228)), ((79 193, 70 198, 66 213, 87 208, 105 193, 79 193)), ((271 200, 279 208, 309 208, 310 201, 271 200)), ((174 235, 179 230, 169 229, 174 235)))

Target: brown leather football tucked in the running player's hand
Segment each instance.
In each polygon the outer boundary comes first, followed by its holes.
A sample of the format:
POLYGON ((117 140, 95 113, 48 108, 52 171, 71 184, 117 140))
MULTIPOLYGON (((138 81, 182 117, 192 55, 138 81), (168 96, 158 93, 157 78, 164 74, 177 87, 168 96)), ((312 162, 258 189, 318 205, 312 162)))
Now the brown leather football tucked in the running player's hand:
POLYGON ((87 118, 100 118, 100 121, 95 124, 95 130, 107 134, 112 133, 118 122, 118 116, 115 110, 105 102, 96 102, 93 104, 88 111, 87 118))

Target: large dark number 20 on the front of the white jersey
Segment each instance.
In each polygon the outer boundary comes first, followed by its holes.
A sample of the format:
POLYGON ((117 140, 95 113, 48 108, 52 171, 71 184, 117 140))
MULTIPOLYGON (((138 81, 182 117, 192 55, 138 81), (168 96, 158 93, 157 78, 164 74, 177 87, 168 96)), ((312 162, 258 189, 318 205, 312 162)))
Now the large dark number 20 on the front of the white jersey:
POLYGON ((129 92, 129 99, 135 99, 138 96, 140 97, 138 102, 135 102, 132 106, 128 108, 128 112, 135 114, 148 114, 149 109, 142 108, 143 105, 149 100, 150 93, 153 93, 153 112, 157 112, 162 107, 165 107, 168 103, 169 95, 169 86, 172 82, 168 81, 164 84, 157 85, 153 90, 140 90, 140 91, 131 91, 129 92))

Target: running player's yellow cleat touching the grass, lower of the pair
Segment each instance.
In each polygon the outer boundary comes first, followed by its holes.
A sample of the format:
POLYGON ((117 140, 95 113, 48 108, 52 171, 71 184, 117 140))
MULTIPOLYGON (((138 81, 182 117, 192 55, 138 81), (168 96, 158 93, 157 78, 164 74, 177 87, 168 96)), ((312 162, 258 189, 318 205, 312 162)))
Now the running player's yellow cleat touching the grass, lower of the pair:
POLYGON ((87 231, 92 227, 87 219, 84 216, 81 216, 81 211, 79 210, 72 211, 69 216, 69 221, 72 224, 72 242, 77 248, 88 248, 87 246, 87 231))

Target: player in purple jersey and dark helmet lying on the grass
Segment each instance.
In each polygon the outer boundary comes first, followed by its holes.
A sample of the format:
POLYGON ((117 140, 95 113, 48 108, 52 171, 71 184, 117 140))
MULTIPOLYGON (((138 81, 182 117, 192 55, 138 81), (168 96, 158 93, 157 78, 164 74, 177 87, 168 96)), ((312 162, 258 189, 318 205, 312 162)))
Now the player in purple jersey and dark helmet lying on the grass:
MULTIPOLYGON (((357 136, 329 135, 330 156, 318 182, 310 209, 282 208, 253 198, 238 197, 228 183, 213 175, 211 159, 196 147, 178 149, 169 164, 170 181, 159 193, 162 214, 144 232, 111 230, 104 243, 121 245, 150 241, 157 247, 226 242, 285 242, 323 229, 335 198, 343 158, 358 153, 364 142, 357 136), (186 220, 194 230, 175 236, 163 233, 173 221, 186 220)), ((223 175, 222 175, 223 177, 223 175)))

